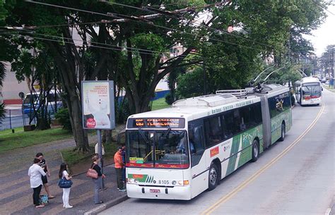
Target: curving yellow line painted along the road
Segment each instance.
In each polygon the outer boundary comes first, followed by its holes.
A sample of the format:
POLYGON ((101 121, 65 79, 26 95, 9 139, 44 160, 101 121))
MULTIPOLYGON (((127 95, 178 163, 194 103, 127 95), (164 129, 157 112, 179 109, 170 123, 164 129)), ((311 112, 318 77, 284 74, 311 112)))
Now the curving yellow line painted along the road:
POLYGON ((320 111, 317 114, 317 117, 315 118, 315 120, 306 128, 306 130, 297 139, 295 139, 295 141, 293 141, 288 147, 286 147, 286 149, 284 149, 283 152, 281 152, 281 154, 278 154, 278 156, 276 156, 268 164, 266 164, 265 166, 260 168, 259 171, 254 173, 252 176, 247 178, 247 180, 245 180, 243 183, 241 183, 239 186, 237 186, 237 188, 230 191, 227 195, 221 197, 221 199, 218 199, 218 201, 216 203, 214 203, 211 207, 208 207, 208 209, 203 211, 201 213, 201 215, 211 214, 214 210, 216 210, 218 207, 220 207, 221 204, 223 204, 224 202, 227 202, 230 198, 235 196, 237 194, 237 192, 240 192, 240 190, 242 190, 247 185, 249 185, 249 183, 252 183, 252 181, 254 181, 256 178, 258 178, 261 175, 261 173, 266 171, 266 169, 270 168, 272 165, 274 165, 276 163, 276 161, 278 161, 279 159, 281 159, 281 157, 283 157, 285 154, 287 154, 290 151, 290 149, 292 149, 295 145, 297 145, 298 142, 302 139, 302 137, 305 137, 305 135, 314 127, 314 125, 317 123, 317 121, 321 117, 323 111, 324 111, 324 104, 322 104, 322 109, 320 109, 320 111))

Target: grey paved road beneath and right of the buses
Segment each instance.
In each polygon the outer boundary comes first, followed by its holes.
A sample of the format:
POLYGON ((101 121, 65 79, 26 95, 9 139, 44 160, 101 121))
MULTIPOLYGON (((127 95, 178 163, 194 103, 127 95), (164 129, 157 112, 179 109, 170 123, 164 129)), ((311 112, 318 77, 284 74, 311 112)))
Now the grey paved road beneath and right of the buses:
POLYGON ((335 193, 334 110, 335 94, 327 90, 324 105, 295 106, 286 140, 221 180, 211 192, 190 201, 128 199, 100 214, 325 214, 335 193), (318 113, 319 120, 302 137, 318 113), (290 145, 294 146, 281 154, 290 145), (258 174, 250 178, 254 173, 258 174))

